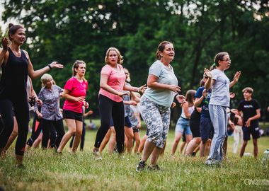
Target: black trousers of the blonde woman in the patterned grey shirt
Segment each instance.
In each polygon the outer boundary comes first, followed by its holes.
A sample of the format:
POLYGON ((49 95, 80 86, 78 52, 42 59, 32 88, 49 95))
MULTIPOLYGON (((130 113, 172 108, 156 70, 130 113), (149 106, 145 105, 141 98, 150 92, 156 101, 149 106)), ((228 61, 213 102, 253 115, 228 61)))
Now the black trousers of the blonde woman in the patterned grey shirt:
POLYGON ((45 120, 42 119, 42 148, 47 149, 47 142, 50 139, 50 146, 51 147, 59 147, 60 142, 62 141, 62 137, 64 137, 64 124, 62 120, 45 120), (56 138, 56 132, 57 138, 56 138))

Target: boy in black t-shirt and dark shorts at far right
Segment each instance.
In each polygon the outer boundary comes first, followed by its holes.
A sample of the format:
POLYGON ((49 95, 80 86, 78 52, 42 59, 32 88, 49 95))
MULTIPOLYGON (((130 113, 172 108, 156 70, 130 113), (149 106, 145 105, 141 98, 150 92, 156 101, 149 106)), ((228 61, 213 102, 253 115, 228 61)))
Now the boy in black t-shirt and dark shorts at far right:
POLYGON ((243 139, 244 142, 241 147, 240 157, 244 155, 246 144, 248 144, 248 140, 251 139, 251 134, 253 138, 253 153, 254 157, 257 157, 258 154, 258 141, 257 139, 260 137, 259 134, 259 125, 258 119, 261 117, 260 105, 258 105, 257 100, 253 100, 251 98, 253 93, 253 88, 244 88, 244 100, 241 100, 237 110, 239 110, 239 115, 243 120, 243 139), (243 115, 242 115, 243 114, 243 115))

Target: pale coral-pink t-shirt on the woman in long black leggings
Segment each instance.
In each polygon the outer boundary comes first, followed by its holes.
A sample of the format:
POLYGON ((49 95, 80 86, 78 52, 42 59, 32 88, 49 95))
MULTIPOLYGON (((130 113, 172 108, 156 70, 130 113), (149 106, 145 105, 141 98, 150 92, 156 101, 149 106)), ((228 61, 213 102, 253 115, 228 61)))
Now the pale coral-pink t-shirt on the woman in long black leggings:
MULTIPOLYGON (((110 86, 111 88, 113 88, 118 92, 122 92, 126 76, 123 71, 122 65, 118 64, 118 66, 120 66, 120 71, 109 66, 109 64, 106 64, 105 66, 103 66, 101 74, 108 75, 108 82, 107 82, 108 86, 110 86)), ((115 95, 113 93, 109 93, 108 91, 105 91, 103 88, 100 88, 99 94, 106 96, 111 100, 114 100, 115 102, 122 101, 122 98, 120 98, 120 96, 115 95)))

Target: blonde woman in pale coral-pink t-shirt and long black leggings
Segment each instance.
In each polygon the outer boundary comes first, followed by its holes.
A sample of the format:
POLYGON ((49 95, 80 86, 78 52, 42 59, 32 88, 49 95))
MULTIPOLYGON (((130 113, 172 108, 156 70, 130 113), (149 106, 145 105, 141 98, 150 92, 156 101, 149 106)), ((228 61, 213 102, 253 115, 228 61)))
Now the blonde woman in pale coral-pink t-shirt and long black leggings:
POLYGON ((125 72, 122 67, 122 55, 115 47, 110 47, 105 54, 105 66, 101 70, 100 91, 99 91, 99 112, 101 117, 101 127, 96 134, 93 155, 96 160, 102 159, 99 147, 108 132, 111 117, 113 118, 118 152, 124 151, 124 105, 122 96, 128 95, 125 91, 142 91, 144 86, 135 88, 125 84, 125 72))

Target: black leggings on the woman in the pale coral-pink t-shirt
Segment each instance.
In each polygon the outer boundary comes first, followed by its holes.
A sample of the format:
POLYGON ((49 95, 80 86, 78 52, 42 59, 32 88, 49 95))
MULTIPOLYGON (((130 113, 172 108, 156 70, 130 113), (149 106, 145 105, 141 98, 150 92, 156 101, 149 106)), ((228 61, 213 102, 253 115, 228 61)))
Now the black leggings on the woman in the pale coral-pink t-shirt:
POLYGON ((95 147, 99 148, 105 134, 108 132, 110 127, 111 117, 113 118, 116 141, 118 145, 118 152, 122 153, 124 151, 124 105, 123 101, 115 102, 110 98, 99 95, 99 112, 101 117, 101 126, 99 127, 96 134, 95 147))

